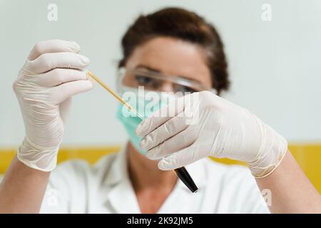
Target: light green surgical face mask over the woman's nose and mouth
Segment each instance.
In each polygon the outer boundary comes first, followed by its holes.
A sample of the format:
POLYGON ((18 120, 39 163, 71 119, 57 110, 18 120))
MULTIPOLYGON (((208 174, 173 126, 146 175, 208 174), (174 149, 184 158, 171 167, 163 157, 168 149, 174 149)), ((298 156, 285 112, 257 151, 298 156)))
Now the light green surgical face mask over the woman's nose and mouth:
MULTIPOLYGON (((153 112, 161 108, 163 105, 168 103, 168 98, 164 98, 164 95, 162 93, 162 99, 151 99, 151 96, 141 95, 138 93, 138 91, 128 91, 128 95, 123 95, 123 99, 126 100, 133 108, 136 108, 138 113, 143 116, 143 118, 147 118, 150 116, 153 112)), ((160 98, 161 93, 159 92, 148 92, 153 93, 152 97, 158 97, 160 98)), ((174 95, 169 95, 169 97, 173 98, 174 95)), ((136 115, 131 113, 126 107, 124 107, 122 104, 119 105, 117 110, 117 118, 121 121, 123 124, 128 136, 129 140, 131 140, 131 143, 133 146, 141 152, 142 154, 146 154, 146 150, 141 149, 139 147, 139 142, 141 142, 141 137, 138 137, 135 133, 135 130, 139 123, 141 123, 141 118, 138 118, 136 115)))

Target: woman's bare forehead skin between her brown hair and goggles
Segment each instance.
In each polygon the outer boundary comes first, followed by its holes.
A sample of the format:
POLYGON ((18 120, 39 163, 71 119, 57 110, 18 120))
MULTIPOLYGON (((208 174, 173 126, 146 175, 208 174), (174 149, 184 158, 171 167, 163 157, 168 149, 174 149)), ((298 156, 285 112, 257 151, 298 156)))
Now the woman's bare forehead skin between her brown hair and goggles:
MULTIPOLYGON (((206 88, 212 86, 203 48, 176 38, 161 36, 138 46, 126 63, 126 71, 137 69, 168 77, 179 76, 206 88)), ((158 90, 176 92, 173 83, 169 82, 162 83, 158 90)))

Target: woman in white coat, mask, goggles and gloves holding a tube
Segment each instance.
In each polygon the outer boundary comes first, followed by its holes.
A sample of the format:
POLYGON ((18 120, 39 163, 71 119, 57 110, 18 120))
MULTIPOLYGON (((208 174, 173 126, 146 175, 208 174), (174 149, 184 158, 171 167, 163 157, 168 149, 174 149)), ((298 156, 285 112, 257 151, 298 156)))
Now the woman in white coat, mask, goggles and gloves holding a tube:
POLYGON ((139 102, 138 86, 200 91, 183 97, 198 96, 198 108, 184 102, 174 116, 153 114, 137 129, 140 121, 119 109, 130 138, 121 152, 94 167, 76 161, 54 169, 71 96, 93 85, 78 44, 37 44, 14 83, 26 138, 1 183, 0 212, 268 212, 260 194, 266 189, 272 194, 271 212, 320 212, 320 195, 287 152, 286 140, 248 110, 206 91, 228 89, 223 44, 212 25, 190 11, 163 9, 140 16, 122 47, 118 80, 123 94, 133 91, 139 102), (199 119, 188 125, 186 110, 199 119), (245 167, 200 160, 208 155, 248 162, 257 184, 245 167), (195 194, 168 171, 182 165, 188 165, 199 187, 195 194))

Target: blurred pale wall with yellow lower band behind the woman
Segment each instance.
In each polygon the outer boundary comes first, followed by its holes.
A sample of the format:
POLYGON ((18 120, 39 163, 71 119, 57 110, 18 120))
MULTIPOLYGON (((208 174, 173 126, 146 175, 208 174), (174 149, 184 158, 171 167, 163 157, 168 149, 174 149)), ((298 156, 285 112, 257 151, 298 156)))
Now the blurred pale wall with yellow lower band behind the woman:
MULTIPOLYGON (((91 71, 115 89, 126 28, 139 14, 166 6, 195 11, 215 25, 225 43, 232 82, 223 97, 252 110, 285 136, 321 192, 318 0, 0 0, 0 173, 6 171, 24 138, 11 84, 34 44, 53 38, 78 42, 81 54, 91 59, 91 71), (57 9, 56 21, 48 19, 51 4, 57 9)), ((99 86, 77 95, 59 161, 79 157, 95 162, 116 152, 126 142, 125 130, 116 120, 117 107, 116 100, 99 86)))

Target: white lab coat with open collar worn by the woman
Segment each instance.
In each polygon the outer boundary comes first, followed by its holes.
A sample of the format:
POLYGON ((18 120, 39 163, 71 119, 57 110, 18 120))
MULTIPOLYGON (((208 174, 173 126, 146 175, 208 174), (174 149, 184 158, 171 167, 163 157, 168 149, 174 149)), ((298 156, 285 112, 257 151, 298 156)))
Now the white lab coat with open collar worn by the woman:
MULTIPOLYGON (((186 167, 199 190, 178 181, 158 213, 268 213, 246 167, 205 158, 186 167)), ((51 173, 41 213, 141 213, 128 178, 126 151, 106 155, 96 165, 64 162, 51 173)))

